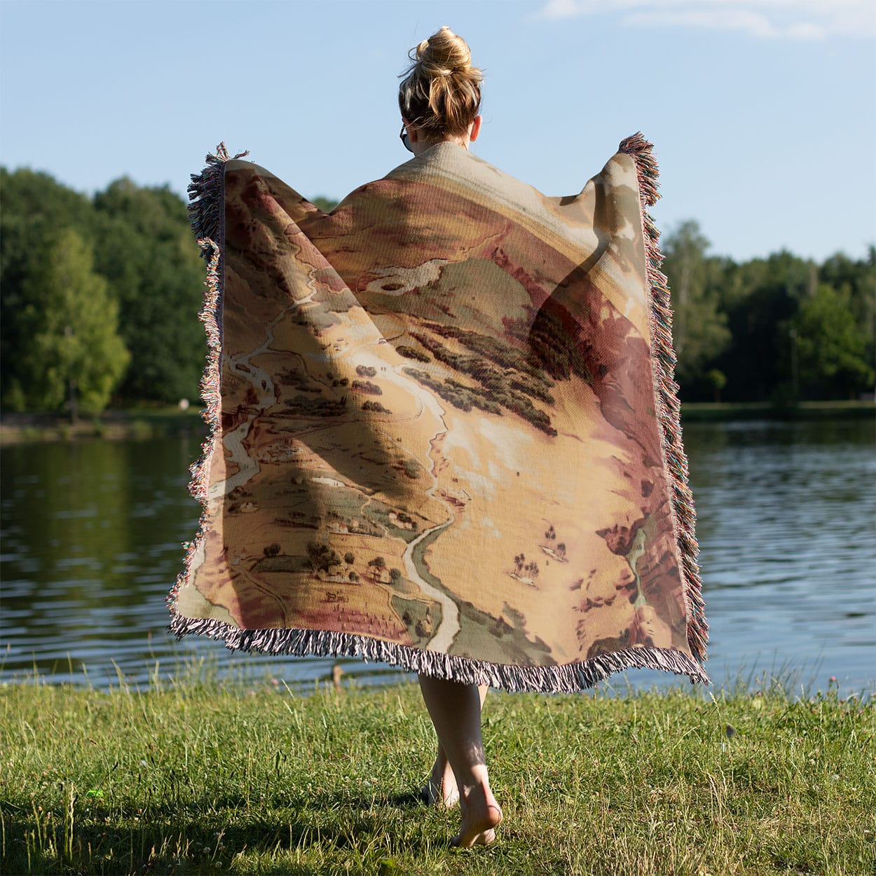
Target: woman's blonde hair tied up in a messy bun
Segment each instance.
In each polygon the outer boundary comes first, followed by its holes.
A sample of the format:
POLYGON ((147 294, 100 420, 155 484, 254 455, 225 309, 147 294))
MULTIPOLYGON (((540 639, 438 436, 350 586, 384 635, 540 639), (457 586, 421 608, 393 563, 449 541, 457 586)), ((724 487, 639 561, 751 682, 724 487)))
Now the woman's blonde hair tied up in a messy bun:
POLYGON ((401 74, 401 115, 427 137, 466 133, 481 106, 484 75, 471 66, 465 40, 444 26, 407 56, 412 63, 401 74))

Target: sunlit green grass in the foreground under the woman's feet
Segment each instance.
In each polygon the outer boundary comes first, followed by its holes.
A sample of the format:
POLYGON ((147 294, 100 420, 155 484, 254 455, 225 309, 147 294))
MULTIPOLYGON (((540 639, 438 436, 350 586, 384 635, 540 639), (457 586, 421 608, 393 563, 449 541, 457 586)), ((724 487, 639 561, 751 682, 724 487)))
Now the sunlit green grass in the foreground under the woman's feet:
POLYGON ((491 692, 487 848, 411 799, 419 689, 0 689, 4 873, 853 873, 876 867, 872 698, 491 692))

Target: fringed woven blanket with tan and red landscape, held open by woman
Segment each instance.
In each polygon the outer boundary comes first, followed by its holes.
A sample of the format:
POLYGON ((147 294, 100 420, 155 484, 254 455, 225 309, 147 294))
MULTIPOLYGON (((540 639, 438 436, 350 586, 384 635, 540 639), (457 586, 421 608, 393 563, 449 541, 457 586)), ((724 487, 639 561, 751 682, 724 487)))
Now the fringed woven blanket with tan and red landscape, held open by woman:
POLYGON ((172 631, 509 690, 708 683, 656 176, 640 134, 562 198, 442 143, 325 214, 208 156, 172 631))

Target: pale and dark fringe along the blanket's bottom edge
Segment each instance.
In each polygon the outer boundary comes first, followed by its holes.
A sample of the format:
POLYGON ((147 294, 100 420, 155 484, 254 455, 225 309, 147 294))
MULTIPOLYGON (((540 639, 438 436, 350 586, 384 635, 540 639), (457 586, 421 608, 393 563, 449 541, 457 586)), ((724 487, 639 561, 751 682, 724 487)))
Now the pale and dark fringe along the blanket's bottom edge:
POLYGON ((215 618, 183 618, 179 614, 173 616, 171 632, 178 638, 194 632, 212 639, 223 639, 225 647, 233 651, 294 654, 300 657, 359 657, 366 661, 388 663, 408 672, 433 675, 463 684, 488 684, 491 688, 512 693, 525 690, 575 693, 592 688, 612 673, 632 668, 661 669, 676 675, 688 675, 692 684, 710 683, 699 663, 688 654, 672 648, 626 648, 562 666, 511 666, 425 651, 349 632, 287 628, 242 630, 215 618))

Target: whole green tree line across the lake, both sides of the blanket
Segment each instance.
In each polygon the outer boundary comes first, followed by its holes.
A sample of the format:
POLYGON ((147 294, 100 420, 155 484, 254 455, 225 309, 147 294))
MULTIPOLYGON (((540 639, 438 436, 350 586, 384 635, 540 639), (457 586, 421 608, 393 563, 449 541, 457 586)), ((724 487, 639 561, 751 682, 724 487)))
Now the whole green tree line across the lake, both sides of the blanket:
MULTIPOLYGON (((89 198, 4 167, 0 195, 0 406, 75 416, 196 398, 204 265, 185 201, 126 178, 89 198)), ((737 263, 711 255, 693 221, 662 247, 682 400, 872 392, 876 248, 737 263)))

